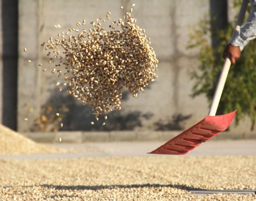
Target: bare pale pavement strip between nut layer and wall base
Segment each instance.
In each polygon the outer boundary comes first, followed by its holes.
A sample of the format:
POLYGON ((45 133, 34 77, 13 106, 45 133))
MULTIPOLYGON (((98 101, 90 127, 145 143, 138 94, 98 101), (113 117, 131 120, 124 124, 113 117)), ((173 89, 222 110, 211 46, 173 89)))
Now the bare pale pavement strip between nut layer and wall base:
MULTIPOLYGON (((68 149, 67 153, 57 154, 33 154, 0 156, 1 158, 14 159, 53 159, 53 158, 81 158, 81 157, 109 157, 109 156, 157 156, 147 154, 165 142, 105 142, 83 144, 50 144, 62 149, 68 149)), ((189 156, 213 156, 213 155, 256 155, 256 140, 244 141, 207 141, 190 151, 189 156)), ((183 157, 183 156, 179 156, 183 157)))

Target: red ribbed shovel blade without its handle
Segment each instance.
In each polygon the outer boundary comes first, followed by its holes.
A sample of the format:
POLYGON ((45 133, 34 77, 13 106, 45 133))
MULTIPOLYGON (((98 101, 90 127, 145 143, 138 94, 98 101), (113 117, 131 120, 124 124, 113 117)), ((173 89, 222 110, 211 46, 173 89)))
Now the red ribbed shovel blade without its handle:
POLYGON ((226 115, 206 116, 202 121, 187 129, 172 140, 158 147, 150 154, 183 155, 199 146, 202 142, 227 129, 236 111, 226 115))

